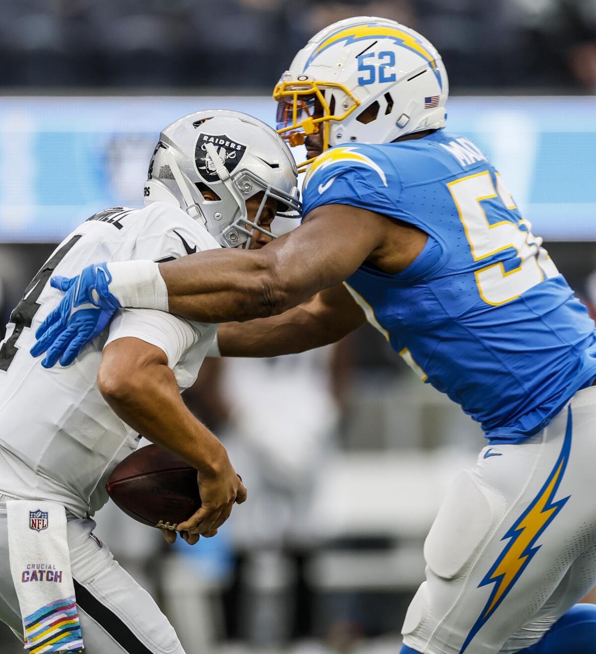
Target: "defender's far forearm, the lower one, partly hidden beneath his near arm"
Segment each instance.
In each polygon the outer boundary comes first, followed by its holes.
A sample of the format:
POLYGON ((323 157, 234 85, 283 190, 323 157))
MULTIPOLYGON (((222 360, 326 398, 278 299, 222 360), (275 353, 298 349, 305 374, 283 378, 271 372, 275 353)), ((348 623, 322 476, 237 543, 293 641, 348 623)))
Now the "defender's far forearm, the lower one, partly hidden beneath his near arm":
POLYGON ((226 322, 217 332, 222 356, 279 356, 336 343, 366 322, 343 284, 279 316, 226 322))

